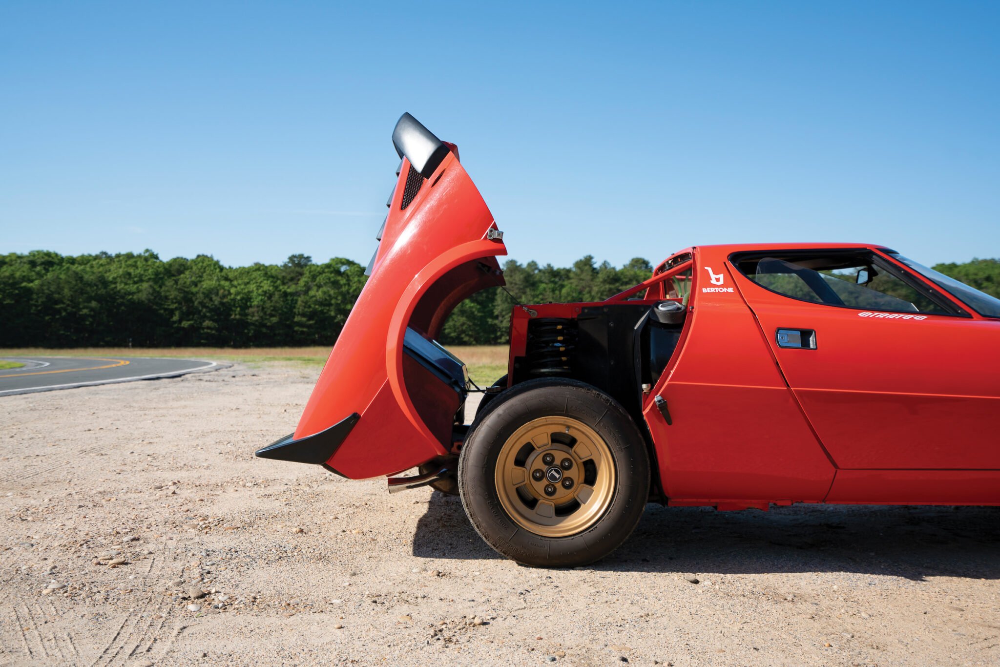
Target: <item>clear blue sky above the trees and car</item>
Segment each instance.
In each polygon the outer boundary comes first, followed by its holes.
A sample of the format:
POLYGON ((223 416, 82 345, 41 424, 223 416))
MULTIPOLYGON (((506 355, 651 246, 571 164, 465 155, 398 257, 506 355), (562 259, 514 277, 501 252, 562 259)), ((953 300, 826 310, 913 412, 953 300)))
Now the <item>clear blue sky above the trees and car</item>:
POLYGON ((367 262, 409 111, 520 261, 998 257, 998 65, 995 2, 7 0, 0 252, 367 262))

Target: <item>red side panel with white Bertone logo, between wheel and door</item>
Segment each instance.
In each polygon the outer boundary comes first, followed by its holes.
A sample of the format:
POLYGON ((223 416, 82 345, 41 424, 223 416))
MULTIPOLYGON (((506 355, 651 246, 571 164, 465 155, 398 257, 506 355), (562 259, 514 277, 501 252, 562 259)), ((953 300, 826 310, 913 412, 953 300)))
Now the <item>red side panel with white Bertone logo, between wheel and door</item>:
POLYGON ((681 341, 643 416, 671 504, 819 502, 834 467, 760 337, 726 266, 729 246, 694 249, 681 341), (668 417, 669 415, 669 417, 668 417))

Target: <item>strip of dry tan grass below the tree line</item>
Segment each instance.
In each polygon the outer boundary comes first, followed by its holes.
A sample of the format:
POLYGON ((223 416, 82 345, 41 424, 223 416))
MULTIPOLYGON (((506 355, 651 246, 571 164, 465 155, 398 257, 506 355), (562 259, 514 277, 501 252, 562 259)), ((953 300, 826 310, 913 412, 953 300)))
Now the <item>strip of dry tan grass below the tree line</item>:
MULTIPOLYGON (((504 345, 455 345, 448 349, 469 367, 472 381, 488 386, 507 372, 504 345)), ((184 357, 213 361, 255 364, 266 361, 293 361, 322 366, 330 356, 329 347, 81 347, 45 349, 38 347, 0 349, 3 357, 184 357)), ((2 363, 2 362, 0 362, 2 363)), ((0 366, 3 368, 3 366, 0 366)), ((13 368, 13 366, 11 366, 13 368)))

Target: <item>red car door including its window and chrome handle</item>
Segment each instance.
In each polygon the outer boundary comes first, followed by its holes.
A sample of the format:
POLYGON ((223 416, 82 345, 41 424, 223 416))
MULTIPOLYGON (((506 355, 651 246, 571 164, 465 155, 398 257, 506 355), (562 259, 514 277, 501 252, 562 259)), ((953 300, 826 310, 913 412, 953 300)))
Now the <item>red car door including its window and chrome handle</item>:
POLYGON ((732 260, 838 468, 1000 469, 996 322, 869 249, 732 260))

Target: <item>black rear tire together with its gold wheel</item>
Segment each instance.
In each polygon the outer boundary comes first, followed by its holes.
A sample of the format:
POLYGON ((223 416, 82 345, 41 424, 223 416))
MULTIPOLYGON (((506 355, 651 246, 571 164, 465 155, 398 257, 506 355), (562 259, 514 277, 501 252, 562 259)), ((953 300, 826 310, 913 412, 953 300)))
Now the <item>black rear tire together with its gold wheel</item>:
POLYGON ((459 457, 459 495, 476 532, 524 565, 607 556, 638 525, 649 484, 649 456, 628 413, 576 380, 530 380, 497 396, 459 457))

